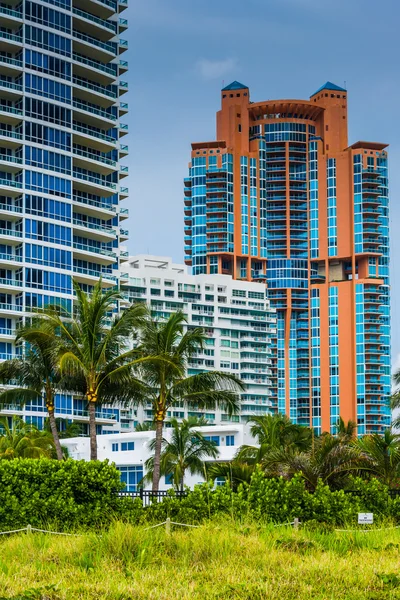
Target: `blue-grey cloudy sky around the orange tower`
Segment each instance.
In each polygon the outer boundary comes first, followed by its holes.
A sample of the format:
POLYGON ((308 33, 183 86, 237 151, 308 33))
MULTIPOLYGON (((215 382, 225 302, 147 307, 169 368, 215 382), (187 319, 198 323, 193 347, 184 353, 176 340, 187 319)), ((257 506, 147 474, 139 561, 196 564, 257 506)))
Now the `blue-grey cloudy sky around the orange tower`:
POLYGON ((308 99, 348 90, 349 144, 389 144, 392 355, 400 368, 400 3, 398 0, 129 0, 130 253, 183 262, 191 142, 215 139, 220 90, 308 99))

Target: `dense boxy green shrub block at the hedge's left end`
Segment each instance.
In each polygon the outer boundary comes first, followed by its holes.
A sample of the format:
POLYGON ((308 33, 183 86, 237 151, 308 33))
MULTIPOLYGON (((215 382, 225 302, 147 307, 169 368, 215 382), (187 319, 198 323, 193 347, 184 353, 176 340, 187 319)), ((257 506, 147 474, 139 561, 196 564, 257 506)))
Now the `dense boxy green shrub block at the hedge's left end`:
POLYGON ((57 524, 96 526, 119 516, 123 488, 114 465, 49 459, 0 461, 0 530, 57 524))

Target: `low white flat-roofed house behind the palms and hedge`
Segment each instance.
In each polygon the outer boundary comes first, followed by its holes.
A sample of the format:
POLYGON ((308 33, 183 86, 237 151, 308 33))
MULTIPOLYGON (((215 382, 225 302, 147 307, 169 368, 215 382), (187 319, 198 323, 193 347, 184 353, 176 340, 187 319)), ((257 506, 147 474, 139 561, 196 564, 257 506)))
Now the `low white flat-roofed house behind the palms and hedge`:
MULTIPOLYGON (((254 440, 248 433, 248 428, 240 424, 207 426, 195 428, 212 440, 218 450, 215 459, 206 462, 231 461, 239 447, 243 444, 253 444, 254 440)), ((121 479, 126 483, 127 492, 136 492, 138 484, 146 475, 145 463, 154 451, 150 449, 150 442, 154 438, 154 431, 136 431, 131 433, 97 436, 97 452, 99 460, 108 459, 115 463, 121 472, 121 479)), ((171 429, 164 430, 164 439, 169 440, 171 429)), ((63 446, 68 448, 71 458, 75 460, 89 460, 90 440, 88 437, 77 437, 63 440, 63 446)), ((202 483, 202 475, 187 473, 184 484, 193 488, 196 483, 202 483)), ((160 490, 172 488, 170 477, 162 476, 160 490)), ((144 489, 151 489, 151 484, 144 485, 144 489)))

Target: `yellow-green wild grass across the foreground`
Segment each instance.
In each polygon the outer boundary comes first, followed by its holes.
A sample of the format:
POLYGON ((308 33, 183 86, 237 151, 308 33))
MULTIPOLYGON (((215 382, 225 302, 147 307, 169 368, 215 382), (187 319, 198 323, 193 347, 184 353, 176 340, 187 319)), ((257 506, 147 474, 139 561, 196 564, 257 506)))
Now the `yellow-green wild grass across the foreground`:
POLYGON ((400 529, 371 533, 209 523, 102 536, 0 538, 0 598, 400 599, 400 529), (28 592, 28 590, 31 590, 28 592))

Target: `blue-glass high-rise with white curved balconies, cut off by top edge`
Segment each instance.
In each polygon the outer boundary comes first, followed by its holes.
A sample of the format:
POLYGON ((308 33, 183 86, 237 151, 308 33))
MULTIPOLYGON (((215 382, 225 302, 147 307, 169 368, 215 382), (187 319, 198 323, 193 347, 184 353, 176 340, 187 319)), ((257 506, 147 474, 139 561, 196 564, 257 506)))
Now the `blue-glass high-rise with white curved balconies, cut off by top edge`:
MULTIPOLYGON (((118 282, 126 8, 127 0, 0 5, 1 359, 21 351, 15 330, 32 307, 71 306, 71 276, 85 290, 100 275, 105 287, 118 282)), ((45 414, 42 402, 23 411, 39 427, 45 414)), ((57 396, 56 416, 87 420, 67 395, 57 396)))

